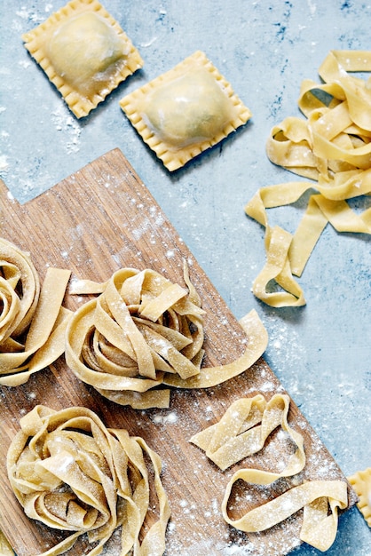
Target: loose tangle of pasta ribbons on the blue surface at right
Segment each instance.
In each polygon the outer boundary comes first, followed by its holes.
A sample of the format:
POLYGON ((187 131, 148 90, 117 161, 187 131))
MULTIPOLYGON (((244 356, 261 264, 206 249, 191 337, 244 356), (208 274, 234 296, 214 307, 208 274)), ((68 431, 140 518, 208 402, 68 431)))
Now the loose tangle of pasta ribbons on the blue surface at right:
POLYGON ((266 263, 253 284, 270 306, 303 306, 300 277, 328 222, 338 232, 371 233, 371 209, 356 213, 348 200, 371 194, 371 81, 349 72, 371 71, 371 52, 331 51, 320 66, 323 83, 304 80, 298 106, 306 116, 272 128, 266 151, 278 164, 312 181, 262 187, 245 207, 265 228, 266 263), (311 189, 295 234, 270 226, 266 209, 296 203, 311 189), (268 291, 269 282, 280 286, 268 291))

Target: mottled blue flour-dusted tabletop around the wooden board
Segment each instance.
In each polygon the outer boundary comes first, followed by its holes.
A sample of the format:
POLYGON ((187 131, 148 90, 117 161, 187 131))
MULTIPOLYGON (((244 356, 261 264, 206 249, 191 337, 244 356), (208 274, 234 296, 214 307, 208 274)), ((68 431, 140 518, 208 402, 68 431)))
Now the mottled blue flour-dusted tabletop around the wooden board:
MULTIPOLYGON (((264 265, 264 231, 244 214, 257 188, 295 178, 265 155, 272 125, 299 115, 304 78, 318 79, 332 49, 371 49, 371 3, 297 0, 106 0, 145 67, 83 121, 28 56, 20 35, 65 2, 2 5, 0 175, 24 203, 119 147, 240 318, 257 309, 270 336, 266 360, 347 475, 371 465, 370 241, 328 226, 299 280, 307 306, 262 305, 251 284, 264 265), (118 105, 127 92, 202 50, 249 106, 249 124, 170 175, 118 105)), ((357 210, 367 199, 354 203, 357 210)), ((271 210, 294 231, 305 203, 271 210)), ((320 552, 307 545, 297 556, 320 552)), ((239 552, 239 555, 241 552, 239 552)), ((330 556, 370 556, 356 508, 340 520, 330 556)), ((186 552, 179 554, 186 556, 186 552)))

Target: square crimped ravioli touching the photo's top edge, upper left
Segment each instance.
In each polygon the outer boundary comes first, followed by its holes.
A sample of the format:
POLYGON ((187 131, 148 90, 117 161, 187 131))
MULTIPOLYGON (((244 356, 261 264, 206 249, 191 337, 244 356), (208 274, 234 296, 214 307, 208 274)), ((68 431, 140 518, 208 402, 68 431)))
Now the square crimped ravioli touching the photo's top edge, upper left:
POLYGON ((143 66, 129 37, 97 0, 71 0, 22 39, 78 118, 143 66))

